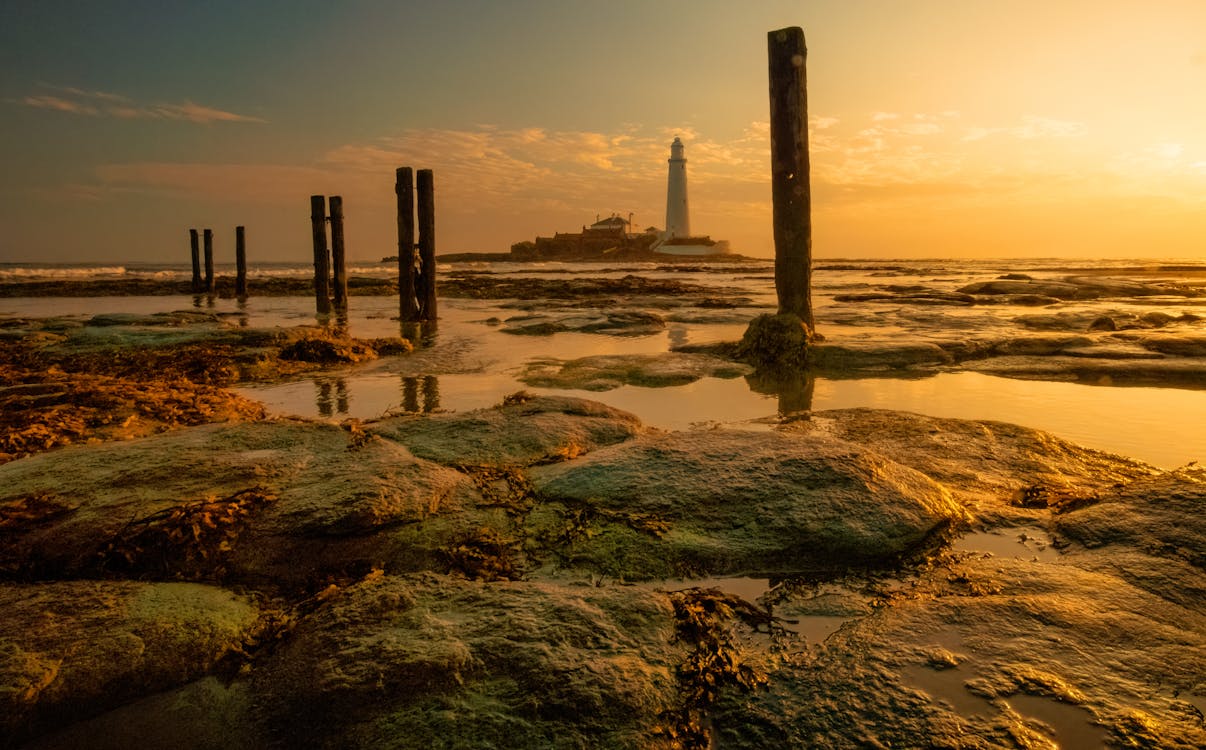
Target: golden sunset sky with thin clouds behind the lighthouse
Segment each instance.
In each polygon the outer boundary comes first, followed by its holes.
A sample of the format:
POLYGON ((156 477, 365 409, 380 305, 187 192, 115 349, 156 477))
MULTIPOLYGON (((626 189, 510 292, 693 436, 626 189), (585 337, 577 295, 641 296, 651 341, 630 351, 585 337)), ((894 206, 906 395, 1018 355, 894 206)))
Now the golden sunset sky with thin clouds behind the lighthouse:
MULTIPOLYGON (((437 252, 632 215, 772 257, 767 31, 808 43, 816 258, 1206 258, 1206 0, 0 0, 0 262, 187 262, 188 229, 437 252)), ((229 257, 226 257, 229 256, 229 257)))

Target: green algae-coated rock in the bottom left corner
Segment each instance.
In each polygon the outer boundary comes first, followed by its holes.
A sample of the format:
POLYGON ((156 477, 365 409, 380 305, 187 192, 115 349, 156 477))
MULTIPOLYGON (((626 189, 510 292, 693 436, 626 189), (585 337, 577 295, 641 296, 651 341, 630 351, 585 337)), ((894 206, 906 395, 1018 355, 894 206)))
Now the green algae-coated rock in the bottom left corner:
POLYGON ((198 584, 0 585, 0 730, 28 736, 193 680, 253 637, 258 609, 198 584))

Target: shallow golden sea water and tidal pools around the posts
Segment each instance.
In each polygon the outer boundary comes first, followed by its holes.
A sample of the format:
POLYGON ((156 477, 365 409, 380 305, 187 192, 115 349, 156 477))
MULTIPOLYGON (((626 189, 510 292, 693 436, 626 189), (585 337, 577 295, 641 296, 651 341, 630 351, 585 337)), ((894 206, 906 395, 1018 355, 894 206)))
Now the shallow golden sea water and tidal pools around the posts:
MULTIPOLYGON (((219 276, 233 264, 217 264, 219 276)), ((0 283, 46 280, 191 277, 187 264, 0 263, 0 283)), ((153 314, 203 309, 232 324, 251 327, 329 324, 318 317, 310 297, 257 297, 256 280, 309 277, 303 263, 251 264, 250 297, 244 300, 169 297, 2 297, 0 317, 153 314)), ((349 275, 392 277, 392 263, 353 262, 349 275)), ((619 300, 619 307, 654 312, 665 328, 616 333, 515 333, 533 321, 570 321, 599 315, 590 299, 515 300, 441 298, 439 320, 416 351, 402 357, 326 370, 270 383, 235 388, 264 403, 270 412, 316 420, 370 420, 387 414, 464 411, 497 404, 526 389, 590 398, 631 411, 662 429, 772 429, 788 409, 775 393, 763 393, 745 377, 702 377, 671 387, 622 385, 610 389, 545 388, 525 382, 534 368, 601 355, 658 355, 674 347, 733 341, 750 318, 775 306, 773 262, 668 265, 637 262, 598 263, 441 263, 438 277, 496 275, 516 279, 620 279, 637 275, 714 287, 718 298, 736 306, 689 306, 673 300, 619 300)), ((949 342, 1037 335, 1036 320, 1091 320, 1097 315, 1189 314, 1177 335, 1206 336, 1206 297, 1146 297, 1064 301, 1047 306, 989 304, 950 305, 892 300, 844 301, 848 294, 874 292, 954 292, 1006 274, 1059 280, 1093 275, 1108 279, 1206 283, 1200 259, 814 259, 813 303, 816 329, 827 342, 873 347, 877 344, 949 342), (1036 318, 1035 316, 1038 316, 1036 318), (1046 316, 1046 317, 1044 317, 1046 316)), ((19 294, 19 292, 18 292, 19 294)), ((692 298, 698 299, 698 294, 692 298)), ((392 297, 351 297, 351 335, 394 336, 404 333, 392 297)), ((1072 379, 1020 380, 973 371, 884 371, 871 376, 825 377, 810 383, 803 405, 790 409, 874 408, 937 417, 994 420, 1050 432, 1081 445, 1120 453, 1161 468, 1206 462, 1206 382, 1122 386, 1072 379)))

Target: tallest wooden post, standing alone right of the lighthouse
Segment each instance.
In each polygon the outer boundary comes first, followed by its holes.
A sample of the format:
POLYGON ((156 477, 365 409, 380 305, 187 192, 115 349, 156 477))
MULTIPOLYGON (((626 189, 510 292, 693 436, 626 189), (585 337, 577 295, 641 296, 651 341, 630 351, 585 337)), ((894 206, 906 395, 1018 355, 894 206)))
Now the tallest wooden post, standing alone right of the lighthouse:
POLYGON ((804 31, 767 34, 771 77, 771 197, 774 203, 774 288, 779 314, 813 322, 812 195, 808 180, 808 90, 804 31))

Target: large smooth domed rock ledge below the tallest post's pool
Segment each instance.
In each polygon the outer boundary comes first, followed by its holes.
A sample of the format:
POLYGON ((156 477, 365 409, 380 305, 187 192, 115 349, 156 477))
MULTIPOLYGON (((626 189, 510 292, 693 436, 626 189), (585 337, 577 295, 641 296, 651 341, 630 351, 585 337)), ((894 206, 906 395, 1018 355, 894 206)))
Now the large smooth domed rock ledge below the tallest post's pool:
POLYGON ((613 527, 563 551, 622 578, 884 563, 966 517, 930 477, 819 434, 650 434, 531 476, 546 503, 531 523, 579 510, 665 525, 660 538, 613 527))

